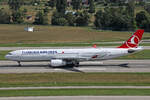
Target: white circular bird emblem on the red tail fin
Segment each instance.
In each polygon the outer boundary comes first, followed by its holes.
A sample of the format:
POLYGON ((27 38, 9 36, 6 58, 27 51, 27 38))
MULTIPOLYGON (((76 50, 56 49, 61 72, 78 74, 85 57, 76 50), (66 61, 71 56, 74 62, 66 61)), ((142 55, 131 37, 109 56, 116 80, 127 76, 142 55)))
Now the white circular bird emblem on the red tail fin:
POLYGON ((138 36, 133 35, 133 36, 131 37, 131 39, 129 39, 129 41, 126 42, 126 45, 127 45, 129 48, 137 47, 139 41, 140 41, 140 39, 138 38, 138 36))

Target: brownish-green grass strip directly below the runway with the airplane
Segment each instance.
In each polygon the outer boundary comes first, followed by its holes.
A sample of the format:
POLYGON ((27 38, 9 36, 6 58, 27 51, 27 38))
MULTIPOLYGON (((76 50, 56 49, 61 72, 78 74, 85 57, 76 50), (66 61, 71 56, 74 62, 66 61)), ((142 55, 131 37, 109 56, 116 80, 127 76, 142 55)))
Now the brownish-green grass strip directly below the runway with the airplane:
POLYGON ((0 74, 0 87, 150 86, 150 73, 0 74))

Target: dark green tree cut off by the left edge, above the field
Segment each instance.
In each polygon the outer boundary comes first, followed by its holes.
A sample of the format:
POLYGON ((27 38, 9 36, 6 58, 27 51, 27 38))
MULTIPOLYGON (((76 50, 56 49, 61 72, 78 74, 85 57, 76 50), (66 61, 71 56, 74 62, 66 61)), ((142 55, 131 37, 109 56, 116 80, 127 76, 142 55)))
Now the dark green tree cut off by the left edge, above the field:
POLYGON ((10 14, 4 9, 0 9, 0 23, 9 24, 10 23, 10 14))

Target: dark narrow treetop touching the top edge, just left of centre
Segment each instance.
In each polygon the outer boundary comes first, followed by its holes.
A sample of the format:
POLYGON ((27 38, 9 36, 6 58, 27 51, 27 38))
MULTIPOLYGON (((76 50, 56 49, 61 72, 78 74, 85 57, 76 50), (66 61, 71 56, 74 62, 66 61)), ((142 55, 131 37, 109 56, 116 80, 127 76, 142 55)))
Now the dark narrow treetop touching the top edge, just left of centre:
POLYGON ((67 8, 67 0, 57 0, 56 9, 59 13, 65 13, 67 8))

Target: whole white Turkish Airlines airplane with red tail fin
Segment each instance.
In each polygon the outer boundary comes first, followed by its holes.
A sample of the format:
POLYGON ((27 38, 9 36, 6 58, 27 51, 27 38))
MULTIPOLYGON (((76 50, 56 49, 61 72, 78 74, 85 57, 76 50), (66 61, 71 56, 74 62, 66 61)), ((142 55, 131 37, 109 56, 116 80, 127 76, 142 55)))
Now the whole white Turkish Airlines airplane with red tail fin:
POLYGON ((82 49, 26 49, 9 52, 5 58, 11 61, 49 61, 51 67, 79 66, 83 61, 102 61, 129 55, 143 50, 139 46, 144 30, 137 30, 125 43, 116 48, 99 48, 96 45, 82 49))

